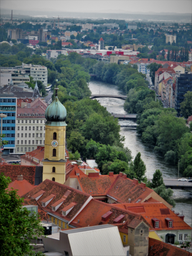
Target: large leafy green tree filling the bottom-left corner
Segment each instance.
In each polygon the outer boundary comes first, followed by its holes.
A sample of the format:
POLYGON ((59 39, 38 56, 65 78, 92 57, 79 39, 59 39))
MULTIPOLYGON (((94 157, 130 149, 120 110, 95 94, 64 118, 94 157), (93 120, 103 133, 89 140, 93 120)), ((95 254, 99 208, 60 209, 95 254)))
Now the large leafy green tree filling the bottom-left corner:
POLYGON ((35 255, 29 244, 43 233, 41 220, 35 214, 29 216, 17 190, 7 190, 10 182, 9 177, 0 174, 0 255, 35 255))

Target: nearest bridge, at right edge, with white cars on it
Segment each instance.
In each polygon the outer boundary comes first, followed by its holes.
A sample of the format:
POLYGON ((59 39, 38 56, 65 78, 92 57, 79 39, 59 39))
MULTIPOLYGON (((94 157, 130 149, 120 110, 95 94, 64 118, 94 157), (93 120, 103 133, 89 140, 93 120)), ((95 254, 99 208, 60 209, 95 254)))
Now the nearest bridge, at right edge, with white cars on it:
POLYGON ((171 189, 192 190, 192 182, 178 181, 177 179, 163 179, 163 182, 165 183, 165 186, 167 189, 171 188, 171 189))

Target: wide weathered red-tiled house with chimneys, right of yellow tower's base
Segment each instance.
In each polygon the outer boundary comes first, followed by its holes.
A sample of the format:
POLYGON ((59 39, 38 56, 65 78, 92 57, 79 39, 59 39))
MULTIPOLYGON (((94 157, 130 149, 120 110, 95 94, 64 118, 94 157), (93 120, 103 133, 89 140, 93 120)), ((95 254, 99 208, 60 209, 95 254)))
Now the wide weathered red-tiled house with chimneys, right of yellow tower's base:
POLYGON ((127 175, 122 172, 119 175, 113 175, 113 172, 109 172, 109 175, 89 173, 88 176, 69 176, 64 184, 74 189, 77 189, 78 186, 80 191, 109 204, 129 203, 129 199, 132 203, 139 203, 154 198, 169 209, 172 208, 154 190, 146 187, 145 183, 139 184, 137 179, 128 179, 127 175))

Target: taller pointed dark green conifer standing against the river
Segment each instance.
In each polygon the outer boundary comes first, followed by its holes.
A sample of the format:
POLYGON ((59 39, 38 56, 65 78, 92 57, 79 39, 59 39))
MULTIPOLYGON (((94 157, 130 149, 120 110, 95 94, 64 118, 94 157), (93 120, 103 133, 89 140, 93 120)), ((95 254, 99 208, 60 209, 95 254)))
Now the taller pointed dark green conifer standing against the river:
POLYGON ((141 153, 138 152, 134 162, 133 162, 133 172, 136 173, 137 179, 139 181, 143 181, 146 179, 145 172, 146 172, 146 166, 143 160, 141 159, 141 153))

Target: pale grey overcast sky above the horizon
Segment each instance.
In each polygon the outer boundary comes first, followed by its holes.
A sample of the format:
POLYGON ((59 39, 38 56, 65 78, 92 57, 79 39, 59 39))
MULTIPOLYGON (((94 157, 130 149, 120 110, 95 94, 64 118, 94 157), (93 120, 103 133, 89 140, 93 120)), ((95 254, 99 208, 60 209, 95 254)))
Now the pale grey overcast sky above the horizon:
MULTIPOLYGON (((64 12, 192 13, 192 0, 0 0, 0 8, 64 12)), ((20 14, 24 14, 21 13, 20 14)))

